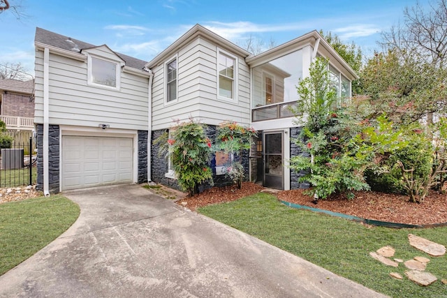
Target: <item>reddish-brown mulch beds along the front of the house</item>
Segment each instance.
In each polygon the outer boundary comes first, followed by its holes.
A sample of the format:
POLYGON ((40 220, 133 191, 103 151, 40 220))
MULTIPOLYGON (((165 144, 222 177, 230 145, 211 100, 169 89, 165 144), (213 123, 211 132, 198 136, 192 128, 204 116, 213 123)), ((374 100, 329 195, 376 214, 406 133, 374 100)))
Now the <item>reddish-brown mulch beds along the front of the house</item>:
MULTIPOLYGON (((224 188, 210 188, 199 195, 177 201, 177 204, 191 210, 207 204, 230 202, 253 195, 263 190, 262 186, 251 182, 244 182, 242 189, 236 186, 224 188)), ((280 191, 279 200, 305 205, 318 209, 349 214, 376 221, 391 223, 406 223, 410 225, 430 225, 434 223, 447 223, 447 195, 432 192, 422 204, 411 203, 405 195, 395 195, 376 192, 355 192, 353 200, 342 196, 333 196, 328 200, 318 200, 314 204, 313 198, 305 194, 304 190, 280 191)))

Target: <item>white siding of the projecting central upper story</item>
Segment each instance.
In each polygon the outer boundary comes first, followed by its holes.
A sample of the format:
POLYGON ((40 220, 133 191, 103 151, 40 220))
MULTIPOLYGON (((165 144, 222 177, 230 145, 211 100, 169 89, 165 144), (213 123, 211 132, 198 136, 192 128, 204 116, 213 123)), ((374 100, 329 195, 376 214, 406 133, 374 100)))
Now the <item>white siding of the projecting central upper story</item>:
POLYGON ((188 121, 191 117, 210 125, 226 120, 237 121, 244 126, 249 124, 249 66, 242 57, 237 59, 237 100, 218 100, 217 49, 217 45, 208 40, 196 38, 177 52, 178 96, 175 103, 165 102, 164 64, 152 68, 153 130, 173 126, 173 119, 188 121))

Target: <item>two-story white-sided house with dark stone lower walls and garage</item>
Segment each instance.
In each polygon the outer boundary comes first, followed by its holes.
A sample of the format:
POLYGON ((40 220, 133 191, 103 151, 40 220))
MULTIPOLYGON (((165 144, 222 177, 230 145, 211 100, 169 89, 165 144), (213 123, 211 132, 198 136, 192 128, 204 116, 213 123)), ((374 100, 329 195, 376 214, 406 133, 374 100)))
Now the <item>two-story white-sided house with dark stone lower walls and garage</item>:
MULTIPOLYGON (((191 118, 207 125, 212 140, 223 121, 253 126, 258 140, 242 156, 247 177, 272 188, 306 187, 287 167, 301 153, 291 142, 300 127, 288 107, 317 56, 329 58, 339 98, 349 98, 357 75, 317 31, 253 56, 196 25, 145 63, 37 29, 38 187, 58 192, 147 180, 175 187, 154 140, 175 120, 191 118)), ((212 160, 217 184, 226 183, 226 158, 212 160)))

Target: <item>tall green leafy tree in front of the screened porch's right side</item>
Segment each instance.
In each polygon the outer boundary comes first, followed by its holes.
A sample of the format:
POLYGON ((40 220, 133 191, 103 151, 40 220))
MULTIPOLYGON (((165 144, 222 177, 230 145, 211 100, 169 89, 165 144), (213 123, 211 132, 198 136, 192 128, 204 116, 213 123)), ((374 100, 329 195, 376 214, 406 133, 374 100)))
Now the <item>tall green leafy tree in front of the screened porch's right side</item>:
MULTIPOLYGON (((309 77, 298 82, 298 105, 294 114, 305 115, 300 136, 294 140, 305 155, 291 158, 296 172, 307 170, 301 181, 312 184, 314 202, 333 193, 349 193, 369 189, 363 172, 372 160, 372 150, 352 128, 352 117, 342 117, 333 103, 336 92, 330 82, 328 60, 318 57, 309 68, 309 77), (349 121, 351 120, 351 121, 349 121)), ((302 121, 297 121, 300 125, 302 121)))

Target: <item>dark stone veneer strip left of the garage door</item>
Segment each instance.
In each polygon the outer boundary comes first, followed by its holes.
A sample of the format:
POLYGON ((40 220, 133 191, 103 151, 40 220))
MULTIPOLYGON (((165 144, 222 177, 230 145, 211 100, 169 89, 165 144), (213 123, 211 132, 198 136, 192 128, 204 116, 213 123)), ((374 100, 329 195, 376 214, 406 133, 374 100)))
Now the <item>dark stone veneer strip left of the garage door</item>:
MULTIPOLYGON (((48 171, 50 193, 59 193, 59 125, 48 128, 48 171)), ((38 191, 43 191, 43 124, 37 124, 37 185, 38 191)))

